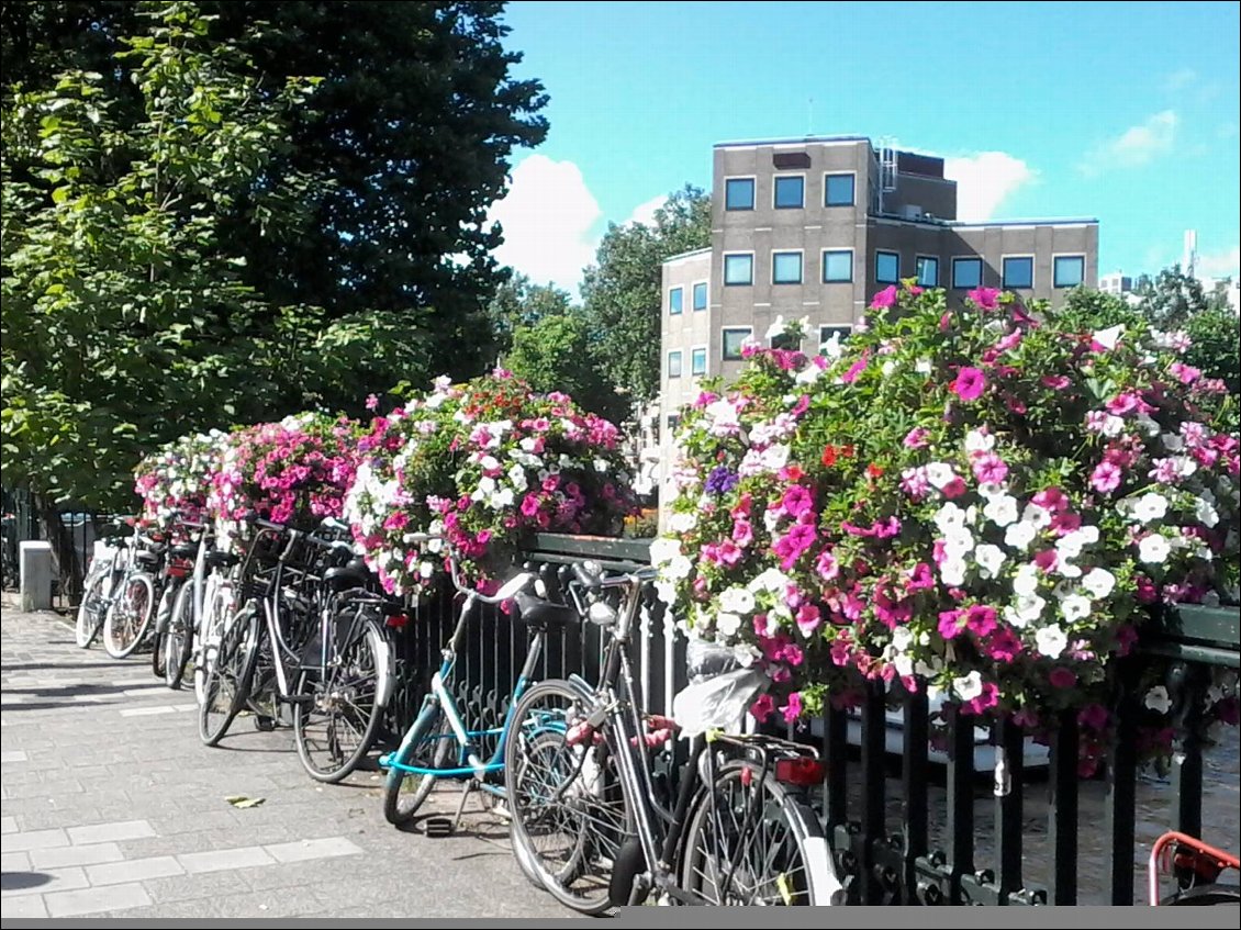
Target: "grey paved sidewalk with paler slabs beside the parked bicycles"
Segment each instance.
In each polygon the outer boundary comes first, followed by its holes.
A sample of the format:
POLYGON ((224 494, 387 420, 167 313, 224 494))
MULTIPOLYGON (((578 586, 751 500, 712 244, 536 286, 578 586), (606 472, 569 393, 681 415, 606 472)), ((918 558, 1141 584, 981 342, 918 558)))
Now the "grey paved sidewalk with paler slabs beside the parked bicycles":
POLYGON ((77 649, 52 613, 5 604, 0 652, 5 919, 575 916, 526 882, 494 813, 442 839, 397 831, 377 771, 318 785, 292 730, 249 718, 208 749, 192 689, 149 656, 77 649))

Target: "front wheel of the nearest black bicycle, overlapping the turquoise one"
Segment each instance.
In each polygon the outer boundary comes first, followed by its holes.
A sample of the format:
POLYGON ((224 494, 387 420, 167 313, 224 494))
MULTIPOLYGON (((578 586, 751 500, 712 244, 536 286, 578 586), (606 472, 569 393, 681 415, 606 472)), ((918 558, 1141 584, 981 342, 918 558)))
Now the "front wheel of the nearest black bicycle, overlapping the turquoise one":
POLYGON ((504 786, 515 852, 558 901, 599 914, 612 904, 612 867, 632 828, 607 744, 566 738, 585 715, 568 682, 531 687, 514 711, 504 786))

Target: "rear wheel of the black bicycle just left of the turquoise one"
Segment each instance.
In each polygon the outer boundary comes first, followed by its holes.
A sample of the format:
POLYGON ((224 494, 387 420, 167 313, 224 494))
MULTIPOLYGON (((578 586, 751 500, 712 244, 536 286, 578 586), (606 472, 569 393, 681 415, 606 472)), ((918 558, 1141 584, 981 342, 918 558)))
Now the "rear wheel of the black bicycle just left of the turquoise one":
POLYGON ((383 713, 379 692, 386 656, 379 625, 366 622, 328 668, 307 670, 299 677, 293 734, 311 779, 340 781, 370 751, 383 713))

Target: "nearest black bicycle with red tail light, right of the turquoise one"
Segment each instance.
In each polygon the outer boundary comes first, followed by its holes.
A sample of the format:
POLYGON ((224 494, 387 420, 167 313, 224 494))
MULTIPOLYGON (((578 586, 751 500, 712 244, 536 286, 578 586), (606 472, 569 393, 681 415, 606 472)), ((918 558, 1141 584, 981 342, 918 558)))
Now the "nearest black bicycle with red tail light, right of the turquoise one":
POLYGON ((683 905, 843 903, 810 802, 824 775, 818 754, 776 737, 707 732, 669 797, 650 750, 671 742, 675 722, 643 713, 628 656, 655 572, 604 578, 597 564, 578 564, 573 573, 583 613, 608 634, 603 675, 596 686, 570 676, 531 687, 505 756, 514 848, 545 888, 585 914, 652 892, 683 905), (622 610, 609 589, 623 591, 622 610))

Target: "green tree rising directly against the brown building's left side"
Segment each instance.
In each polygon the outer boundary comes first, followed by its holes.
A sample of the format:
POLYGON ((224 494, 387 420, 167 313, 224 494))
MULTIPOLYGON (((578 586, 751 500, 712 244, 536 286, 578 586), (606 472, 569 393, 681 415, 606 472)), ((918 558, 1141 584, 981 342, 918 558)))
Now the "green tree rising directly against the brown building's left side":
POLYGON ((686 185, 655 211, 653 226, 608 226, 585 270, 583 310, 592 352, 613 388, 644 404, 659 392, 663 262, 711 244, 711 198, 686 185))

